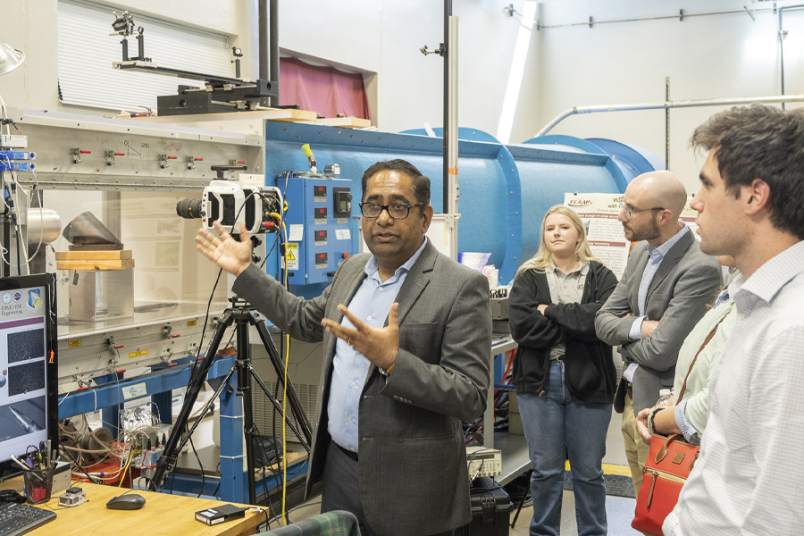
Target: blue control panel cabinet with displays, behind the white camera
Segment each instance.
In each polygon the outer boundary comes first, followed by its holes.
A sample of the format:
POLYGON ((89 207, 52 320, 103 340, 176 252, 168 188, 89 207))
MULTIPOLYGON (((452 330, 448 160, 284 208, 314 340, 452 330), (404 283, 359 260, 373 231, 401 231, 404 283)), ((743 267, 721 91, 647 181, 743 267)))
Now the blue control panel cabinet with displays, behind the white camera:
MULTIPOLYGON (((306 285, 332 281, 340 264, 352 255, 352 181, 291 177, 288 212, 288 282, 306 285)), ((284 180, 277 186, 284 187, 284 180)))

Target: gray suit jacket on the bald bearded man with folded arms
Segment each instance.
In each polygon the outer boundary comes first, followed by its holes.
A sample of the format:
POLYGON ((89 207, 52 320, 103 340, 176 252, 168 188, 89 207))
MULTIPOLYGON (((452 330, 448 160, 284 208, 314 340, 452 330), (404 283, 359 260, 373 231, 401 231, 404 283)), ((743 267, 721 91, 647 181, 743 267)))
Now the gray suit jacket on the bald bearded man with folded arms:
MULTIPOLYGON (((631 313, 639 316, 639 292, 642 272, 648 265, 648 242, 633 247, 623 279, 595 317, 598 337, 610 345, 620 345, 626 366, 639 364, 633 375, 634 415, 656 404, 660 389, 671 389, 678 350, 692 328, 707 312, 722 283, 716 258, 701 253, 692 232, 686 232, 670 248, 659 264, 648 289, 645 314, 659 321, 648 339, 632 340, 628 334, 633 324, 631 313)), ((623 413, 625 383, 621 379, 615 396, 615 410, 623 413)))

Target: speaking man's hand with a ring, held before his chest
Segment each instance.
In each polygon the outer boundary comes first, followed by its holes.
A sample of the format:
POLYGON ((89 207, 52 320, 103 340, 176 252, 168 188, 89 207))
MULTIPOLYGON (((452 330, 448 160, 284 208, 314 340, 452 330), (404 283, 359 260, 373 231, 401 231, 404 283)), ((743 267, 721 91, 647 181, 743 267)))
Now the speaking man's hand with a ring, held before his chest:
POLYGON ((399 304, 391 306, 388 312, 388 325, 384 328, 372 328, 365 325, 343 304, 338 306, 338 310, 349 319, 349 322, 354 324, 355 329, 349 329, 329 318, 321 321, 324 329, 339 339, 346 340, 348 345, 363 354, 373 364, 388 370, 396 361, 399 349, 399 304))

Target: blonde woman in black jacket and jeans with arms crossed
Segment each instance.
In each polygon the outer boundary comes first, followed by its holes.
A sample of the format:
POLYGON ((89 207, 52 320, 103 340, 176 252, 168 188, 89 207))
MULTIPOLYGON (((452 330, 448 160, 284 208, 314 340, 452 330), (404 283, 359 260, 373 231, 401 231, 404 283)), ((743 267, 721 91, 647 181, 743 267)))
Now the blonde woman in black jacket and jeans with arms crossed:
POLYGON ((595 334, 595 314, 617 280, 591 255, 578 214, 549 209, 541 244, 516 272, 511 333, 519 343, 514 382, 528 440, 532 536, 558 536, 569 454, 578 534, 606 534, 601 467, 616 373, 611 347, 595 334))

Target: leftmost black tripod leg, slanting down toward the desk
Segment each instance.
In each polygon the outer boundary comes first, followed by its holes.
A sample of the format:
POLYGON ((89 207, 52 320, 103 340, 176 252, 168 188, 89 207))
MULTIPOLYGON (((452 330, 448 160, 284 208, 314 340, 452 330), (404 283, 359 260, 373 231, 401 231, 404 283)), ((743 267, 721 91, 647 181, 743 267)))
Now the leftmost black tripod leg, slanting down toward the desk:
POLYGON ((204 384, 206 373, 209 372, 209 367, 214 363, 215 354, 218 352, 218 347, 221 345, 223 334, 231 325, 232 320, 233 315, 230 310, 227 310, 221 321, 218 322, 218 327, 213 334, 213 338, 209 341, 209 346, 206 348, 204 358, 197 363, 196 372, 190 378, 187 386, 187 395, 184 397, 184 404, 181 406, 179 416, 176 417, 176 423, 173 424, 171 437, 168 438, 167 443, 164 445, 162 456, 159 456, 159 460, 156 462, 154 478, 149 486, 151 490, 155 491, 162 488, 165 473, 171 471, 176 465, 176 460, 179 458, 182 432, 187 428, 187 422, 193 410, 193 404, 198 398, 198 392, 204 384))

